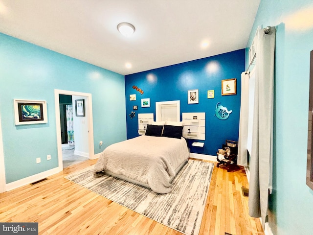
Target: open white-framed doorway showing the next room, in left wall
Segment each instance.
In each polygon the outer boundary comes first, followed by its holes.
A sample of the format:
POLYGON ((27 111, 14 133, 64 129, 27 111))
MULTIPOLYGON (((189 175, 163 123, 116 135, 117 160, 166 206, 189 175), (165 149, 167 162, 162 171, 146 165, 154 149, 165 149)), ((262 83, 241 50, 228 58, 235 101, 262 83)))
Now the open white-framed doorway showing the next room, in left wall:
MULTIPOLYGON (((65 123, 65 111, 63 105, 72 105, 72 118, 73 118, 73 145, 75 148, 67 149, 66 161, 67 164, 73 164, 73 162, 94 159, 94 146, 93 146, 93 123, 92 123, 92 99, 91 94, 89 93, 79 93, 79 92, 72 92, 72 91, 64 91, 64 90, 54 90, 55 94, 55 111, 56 111, 56 129, 57 129, 57 145, 58 145, 58 163, 59 169, 63 170, 64 164, 64 152, 62 150, 62 145, 68 145, 66 141, 66 134, 67 132, 67 140, 68 140, 68 127, 65 123), (63 101, 60 97, 67 98, 67 101, 63 101), (76 117, 75 115, 75 100, 83 99, 85 104, 85 112, 84 117, 79 116, 76 117), (70 101, 69 101, 70 100, 70 101), (64 104, 68 103, 68 104, 64 104), (63 123, 63 124, 62 124, 63 123), (75 137, 76 132, 76 137, 75 137), (70 150, 70 151, 69 151, 70 150), (70 153, 72 152, 72 153, 70 153), (72 155, 72 159, 71 156, 72 155)), ((66 112, 69 110, 66 109, 66 112)), ((76 164, 76 163, 74 163, 76 164)))

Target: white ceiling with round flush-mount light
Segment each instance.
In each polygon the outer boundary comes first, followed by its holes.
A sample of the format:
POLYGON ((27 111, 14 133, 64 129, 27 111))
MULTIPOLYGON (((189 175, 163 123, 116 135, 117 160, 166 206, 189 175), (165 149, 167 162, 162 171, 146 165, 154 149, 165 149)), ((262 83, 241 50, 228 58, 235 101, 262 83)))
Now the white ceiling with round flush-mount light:
POLYGON ((0 32, 126 75, 245 48, 259 3, 0 0, 0 32), (131 37, 121 22, 134 24, 131 37))

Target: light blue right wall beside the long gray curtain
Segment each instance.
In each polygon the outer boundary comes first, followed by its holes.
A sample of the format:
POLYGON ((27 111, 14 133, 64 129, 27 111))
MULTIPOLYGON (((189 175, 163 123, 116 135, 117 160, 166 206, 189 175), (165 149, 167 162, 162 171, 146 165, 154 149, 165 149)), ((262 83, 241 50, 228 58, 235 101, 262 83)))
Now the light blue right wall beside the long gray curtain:
POLYGON ((313 1, 261 0, 248 47, 259 25, 276 26, 269 226, 275 235, 312 235, 313 191, 306 185, 306 169, 313 1))

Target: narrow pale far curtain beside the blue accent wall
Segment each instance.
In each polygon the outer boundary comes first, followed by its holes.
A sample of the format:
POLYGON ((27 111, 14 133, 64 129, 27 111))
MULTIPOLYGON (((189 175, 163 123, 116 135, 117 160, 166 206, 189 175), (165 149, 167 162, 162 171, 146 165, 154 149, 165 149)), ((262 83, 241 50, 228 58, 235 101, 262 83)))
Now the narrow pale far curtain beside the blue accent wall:
POLYGON ((241 74, 241 97, 240 97, 239 139, 238 139, 238 164, 247 166, 247 138, 249 117, 249 74, 241 74))

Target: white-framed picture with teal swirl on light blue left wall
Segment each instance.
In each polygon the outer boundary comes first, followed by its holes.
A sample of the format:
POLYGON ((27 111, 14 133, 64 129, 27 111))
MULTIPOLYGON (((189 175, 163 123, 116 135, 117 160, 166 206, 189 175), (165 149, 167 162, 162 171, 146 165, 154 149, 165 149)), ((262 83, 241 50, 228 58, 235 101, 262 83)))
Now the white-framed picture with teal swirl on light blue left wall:
POLYGON ((45 100, 14 99, 15 125, 47 123, 45 100))

